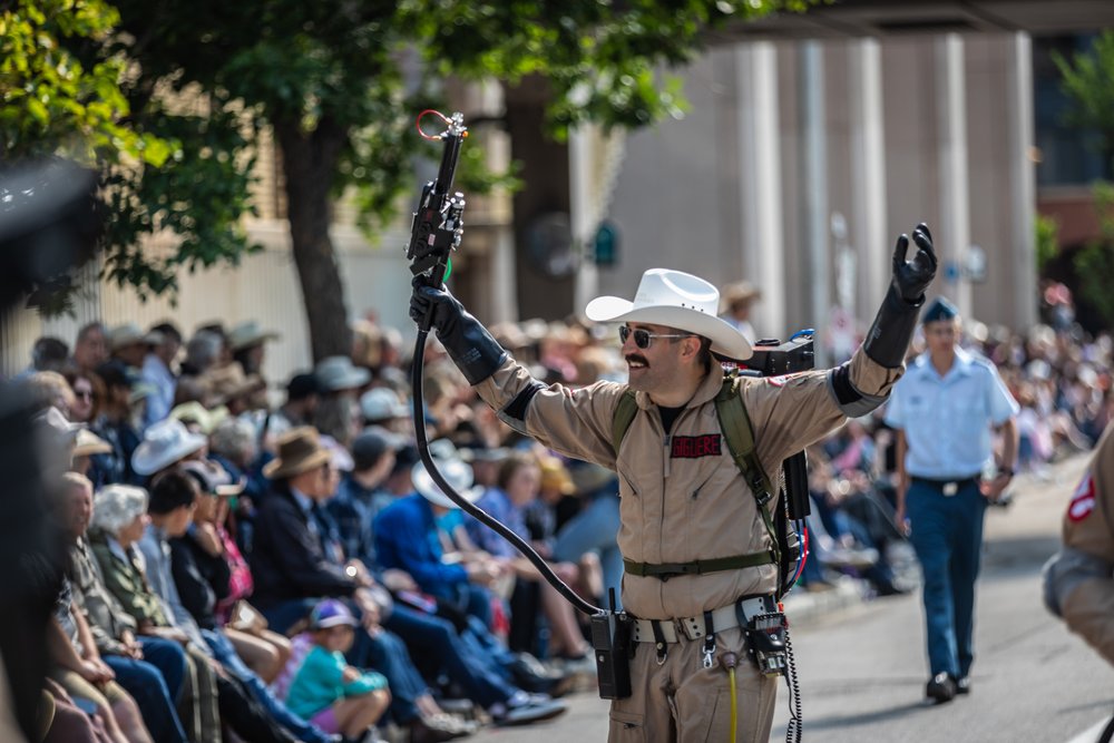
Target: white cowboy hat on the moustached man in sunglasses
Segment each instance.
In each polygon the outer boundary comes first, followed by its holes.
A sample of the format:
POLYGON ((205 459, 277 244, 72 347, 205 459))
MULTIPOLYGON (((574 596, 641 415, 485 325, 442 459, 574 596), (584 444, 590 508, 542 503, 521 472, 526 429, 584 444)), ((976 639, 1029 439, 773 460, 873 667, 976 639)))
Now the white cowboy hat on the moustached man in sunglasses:
POLYGON ((667 325, 712 341, 712 351, 729 359, 751 358, 751 344, 716 313, 720 292, 698 276, 668 268, 651 268, 642 275, 634 302, 618 296, 597 296, 584 313, 595 322, 641 322, 667 325))

